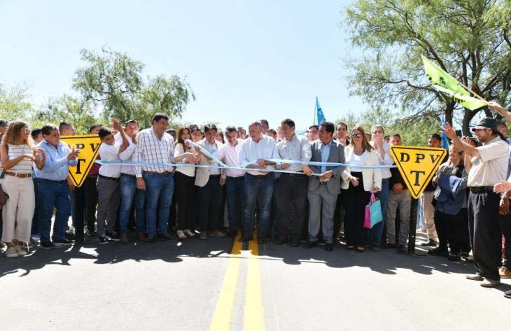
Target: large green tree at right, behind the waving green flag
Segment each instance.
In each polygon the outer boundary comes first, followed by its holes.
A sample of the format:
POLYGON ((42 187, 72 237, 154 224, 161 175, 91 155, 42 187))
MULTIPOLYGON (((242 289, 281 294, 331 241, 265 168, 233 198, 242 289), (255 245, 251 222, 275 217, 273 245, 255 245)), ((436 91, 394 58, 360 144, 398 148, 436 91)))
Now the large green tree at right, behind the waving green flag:
POLYGON ((353 94, 373 107, 398 108, 404 125, 458 118, 470 111, 430 87, 425 55, 486 100, 511 101, 511 0, 356 0, 346 9, 351 43, 363 56, 348 59, 353 94))

